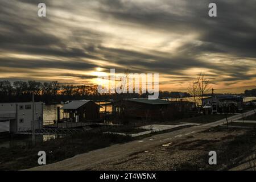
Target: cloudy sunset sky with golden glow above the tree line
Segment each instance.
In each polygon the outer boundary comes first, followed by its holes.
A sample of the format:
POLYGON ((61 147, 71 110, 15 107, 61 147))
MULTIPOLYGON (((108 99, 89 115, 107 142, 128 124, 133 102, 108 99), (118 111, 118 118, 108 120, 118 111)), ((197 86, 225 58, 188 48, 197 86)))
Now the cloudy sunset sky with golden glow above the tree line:
POLYGON ((0 1, 0 80, 97 84, 129 69, 186 90, 203 72, 217 92, 256 88, 255 0, 0 1), (38 3, 47 16, 38 16, 38 3), (217 17, 208 5, 217 5, 217 17))

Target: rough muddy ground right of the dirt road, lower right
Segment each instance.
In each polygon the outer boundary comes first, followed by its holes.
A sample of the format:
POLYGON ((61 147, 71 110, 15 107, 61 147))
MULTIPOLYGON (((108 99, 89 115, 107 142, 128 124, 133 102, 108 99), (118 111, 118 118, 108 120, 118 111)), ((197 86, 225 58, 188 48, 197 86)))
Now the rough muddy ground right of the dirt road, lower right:
POLYGON ((214 127, 93 170, 228 170, 251 152, 256 145, 255 134, 252 129, 214 127), (212 150, 217 152, 217 165, 210 166, 208 154, 212 150))

